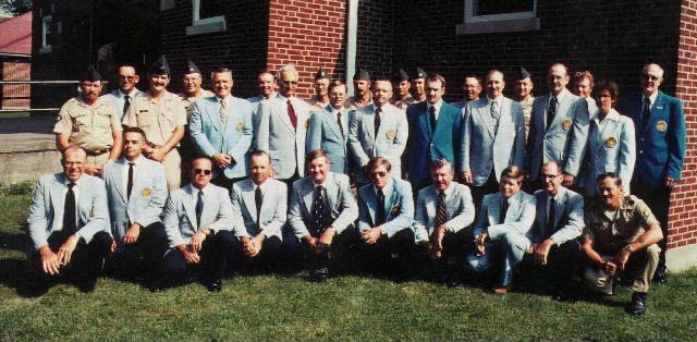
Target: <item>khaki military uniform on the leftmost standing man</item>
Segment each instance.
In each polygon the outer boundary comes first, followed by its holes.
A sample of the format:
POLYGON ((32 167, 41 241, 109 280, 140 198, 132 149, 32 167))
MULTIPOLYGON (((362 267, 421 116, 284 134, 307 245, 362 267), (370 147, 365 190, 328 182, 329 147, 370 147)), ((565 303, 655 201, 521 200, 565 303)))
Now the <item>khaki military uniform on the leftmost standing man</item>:
POLYGON ((109 101, 97 99, 89 106, 75 97, 61 107, 53 133, 70 135, 70 144, 87 151, 87 163, 103 166, 109 161, 113 134, 122 131, 120 117, 109 101))

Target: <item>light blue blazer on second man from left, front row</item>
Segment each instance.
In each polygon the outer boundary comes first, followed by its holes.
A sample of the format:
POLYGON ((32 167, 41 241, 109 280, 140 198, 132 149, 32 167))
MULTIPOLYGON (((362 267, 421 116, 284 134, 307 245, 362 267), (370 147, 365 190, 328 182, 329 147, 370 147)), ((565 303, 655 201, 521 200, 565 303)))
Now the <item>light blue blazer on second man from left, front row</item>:
POLYGON ((109 198, 111 233, 118 244, 132 223, 148 227, 161 222, 168 195, 164 169, 157 161, 144 156, 140 158, 130 198, 126 198, 125 180, 122 175, 122 168, 127 168, 124 157, 108 162, 102 172, 109 198))

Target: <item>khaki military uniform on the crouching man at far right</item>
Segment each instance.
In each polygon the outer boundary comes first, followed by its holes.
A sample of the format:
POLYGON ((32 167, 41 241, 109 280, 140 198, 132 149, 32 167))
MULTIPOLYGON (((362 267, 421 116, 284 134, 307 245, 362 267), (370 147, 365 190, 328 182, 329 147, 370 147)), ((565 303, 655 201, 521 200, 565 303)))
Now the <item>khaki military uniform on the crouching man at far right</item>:
MULTIPOLYGON (((607 211, 600 201, 594 201, 586 209, 584 239, 591 240, 592 246, 603 259, 610 260, 629 243, 634 242, 653 224, 659 224, 651 209, 634 195, 622 198, 620 209, 607 211)), ((632 289, 647 292, 651 277, 658 267, 661 248, 653 244, 647 248, 634 251, 627 261, 627 268, 637 272, 632 289)), ((585 279, 597 291, 611 293, 612 278, 595 265, 585 271, 585 279)))

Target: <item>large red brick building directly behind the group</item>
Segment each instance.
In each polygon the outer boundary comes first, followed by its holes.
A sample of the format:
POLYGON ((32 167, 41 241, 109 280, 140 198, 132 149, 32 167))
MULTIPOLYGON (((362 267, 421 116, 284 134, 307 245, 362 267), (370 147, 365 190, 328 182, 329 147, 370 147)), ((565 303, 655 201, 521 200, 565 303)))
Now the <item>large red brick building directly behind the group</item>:
MULTIPOLYGON (((74 1, 37 1, 42 2, 74 1)), ((669 266, 697 264, 695 0, 161 0, 156 12, 159 36, 150 50, 168 57, 174 89, 186 59, 204 71, 230 66, 239 96, 254 95, 259 70, 285 63, 298 68, 302 96, 311 93, 320 66, 350 78, 358 68, 389 75, 419 65, 445 76, 452 100, 461 98, 464 74, 493 68, 506 73, 525 66, 534 74, 535 93, 543 94, 547 68, 563 61, 573 72, 614 80, 626 93, 638 90, 644 64, 659 63, 663 90, 685 101, 688 127, 683 181, 672 198, 669 266)), ((119 15, 112 11, 109 17, 119 15)), ((81 64, 87 60, 95 60, 94 52, 81 64)), ((36 63, 35 69, 63 68, 73 76, 83 68, 48 59, 36 63)))

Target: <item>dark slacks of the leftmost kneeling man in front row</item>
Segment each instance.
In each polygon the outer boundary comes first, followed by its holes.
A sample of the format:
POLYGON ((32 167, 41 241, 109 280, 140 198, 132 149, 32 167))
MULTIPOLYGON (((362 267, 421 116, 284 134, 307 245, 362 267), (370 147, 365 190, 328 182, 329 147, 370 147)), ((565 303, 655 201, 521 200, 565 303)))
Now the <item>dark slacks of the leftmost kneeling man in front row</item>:
MULTIPOLYGON (((71 234, 62 231, 53 232, 48 237, 49 248, 51 248, 53 253, 58 253, 60 246, 65 243, 70 235, 71 234)), ((60 276, 64 276, 66 280, 75 284, 95 281, 97 277, 99 277, 101 264, 109 253, 110 245, 111 236, 106 232, 95 234, 89 243, 86 243, 85 240, 81 237, 75 251, 73 251, 70 264, 62 267, 60 274, 57 276, 44 272, 40 255, 30 247, 27 253, 30 281, 34 285, 38 286, 48 285, 60 276)))

